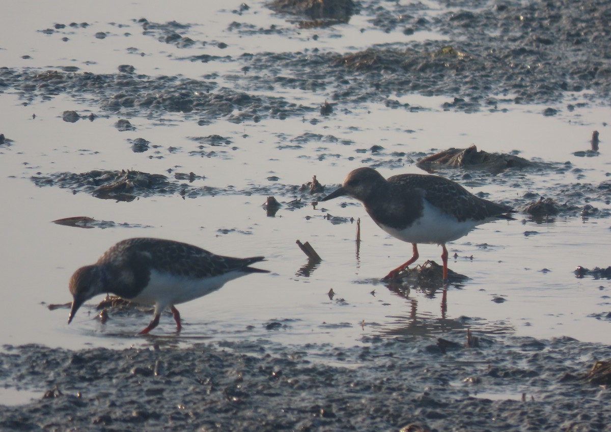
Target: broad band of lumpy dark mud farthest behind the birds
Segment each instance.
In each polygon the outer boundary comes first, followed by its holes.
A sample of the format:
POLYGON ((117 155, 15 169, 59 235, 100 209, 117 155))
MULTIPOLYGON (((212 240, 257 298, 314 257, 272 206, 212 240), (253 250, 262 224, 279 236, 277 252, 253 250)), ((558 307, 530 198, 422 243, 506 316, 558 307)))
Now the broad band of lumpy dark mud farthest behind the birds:
MULTIPOLYGON (((422 109, 395 99, 409 93, 448 96, 442 108, 459 112, 496 111, 515 104, 558 104, 577 93, 584 102, 566 104, 566 110, 573 111, 609 96, 611 13, 607 2, 590 0, 580 3, 579 8, 570 1, 456 2, 451 9, 441 2, 442 13, 434 14, 421 3, 358 5, 350 13, 367 16, 373 29, 403 37, 437 32, 443 39, 406 40, 352 52, 314 49, 172 57, 205 63, 212 71, 200 79, 148 76, 132 65, 119 65, 114 74, 89 73, 74 66, 49 70, 2 67, 0 88, 19 93, 24 104, 66 94, 95 107, 89 115, 70 112, 64 121, 95 120, 120 112, 149 118, 181 112, 200 125, 221 119, 257 123, 320 112, 319 106, 276 96, 282 88, 330 95, 324 115, 363 101, 410 111, 422 109), (214 72, 224 63, 233 65, 234 70, 214 72), (224 87, 225 83, 231 83, 231 88, 224 87)), ((243 15, 232 15, 236 20, 227 31, 240 38, 271 32, 288 38, 298 31, 291 15, 285 27, 266 29, 248 24, 248 13, 246 9, 243 15)), ((130 25, 161 46, 220 45, 201 40, 191 24, 152 23, 141 18, 130 25)), ((66 26, 56 24, 42 32, 49 37, 79 37, 78 26, 68 32, 66 26)), ((127 51, 141 54, 133 47, 127 51)), ((326 97, 321 96, 320 104, 326 97)), ((558 107, 543 111, 544 115, 556 113, 558 107)))

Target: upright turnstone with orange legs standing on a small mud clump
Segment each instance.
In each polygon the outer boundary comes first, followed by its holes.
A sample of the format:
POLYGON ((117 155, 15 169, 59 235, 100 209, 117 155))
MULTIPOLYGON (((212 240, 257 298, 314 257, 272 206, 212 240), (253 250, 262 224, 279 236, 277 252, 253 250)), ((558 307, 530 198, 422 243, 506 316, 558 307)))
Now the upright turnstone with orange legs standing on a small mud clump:
POLYGON ((511 207, 478 198, 464 187, 438 176, 401 174, 385 179, 373 168, 357 168, 342 187, 322 201, 348 195, 365 207, 384 231, 412 243, 412 257, 384 279, 395 279, 419 257, 418 243, 434 243, 443 248, 444 280, 448 278, 448 250, 445 243, 466 236, 481 223, 514 220, 511 207))

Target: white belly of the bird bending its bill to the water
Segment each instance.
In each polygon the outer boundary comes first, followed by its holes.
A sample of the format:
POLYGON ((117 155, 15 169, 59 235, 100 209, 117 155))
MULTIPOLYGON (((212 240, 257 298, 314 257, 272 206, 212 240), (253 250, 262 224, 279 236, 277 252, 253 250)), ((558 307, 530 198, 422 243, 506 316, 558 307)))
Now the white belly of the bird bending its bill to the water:
POLYGON ((185 303, 221 288, 228 281, 247 275, 244 272, 229 272, 209 278, 192 279, 152 270, 148 285, 130 301, 155 306, 161 312, 170 304, 185 303))

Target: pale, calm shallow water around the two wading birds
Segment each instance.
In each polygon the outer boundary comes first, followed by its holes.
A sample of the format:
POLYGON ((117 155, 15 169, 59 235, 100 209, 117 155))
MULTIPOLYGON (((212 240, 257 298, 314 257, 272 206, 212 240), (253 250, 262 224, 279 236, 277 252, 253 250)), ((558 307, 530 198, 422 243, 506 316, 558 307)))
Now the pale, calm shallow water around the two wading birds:
MULTIPOLYGON (((199 2, 197 5, 201 7, 199 2)), ((26 2, 11 7, 20 8, 13 12, 15 15, 32 11, 26 23, 7 20, 9 15, 3 14, 0 40, 4 49, 0 51, 0 63, 16 69, 45 71, 76 65, 81 71, 115 73, 119 65, 130 64, 136 73, 149 76, 181 74, 201 79, 203 75, 216 74, 214 79, 219 85, 231 87, 235 82, 236 87, 244 87, 233 78, 243 74, 246 62, 240 60, 240 55, 244 52, 314 48, 345 52, 367 48, 371 43, 401 41, 397 34, 375 28, 368 29, 365 36, 354 31, 371 25, 365 16, 354 18, 354 26, 295 31, 284 17, 256 4, 249 12, 238 15, 212 2, 205 3, 210 13, 197 20, 188 5, 169 11, 161 2, 155 7, 133 2, 104 10, 80 4, 65 9, 26 9, 26 2), (143 35, 141 26, 132 21, 143 15, 159 23, 199 21, 189 28, 188 35, 206 40, 208 45, 178 49, 160 43, 155 37, 143 35), (234 20, 249 21, 255 28, 281 26, 282 32, 266 38, 244 37, 227 31, 234 20), (55 23, 68 25, 71 21, 91 25, 51 35, 40 32, 55 23), (110 34, 103 40, 93 37, 100 31, 110 34), (66 42, 60 40, 64 34, 69 38, 66 42), (313 38, 315 34, 317 38, 313 38), (219 41, 229 47, 215 48, 219 41), (144 56, 133 54, 128 49, 132 46, 144 56), (178 60, 203 53, 231 56, 232 61, 178 60), (26 54, 32 58, 20 58, 26 54)), ((417 32, 413 40, 430 40, 430 36, 417 32)), ((254 88, 249 93, 266 92, 254 88)), ((268 337, 285 344, 331 342, 351 346, 363 336, 410 337, 469 326, 490 333, 571 336, 611 343, 610 323, 604 319, 609 311, 609 280, 578 279, 573 275, 577 265, 610 265, 611 224, 607 217, 609 203, 604 196, 590 200, 599 208, 599 216, 584 219, 574 212, 540 223, 518 214, 516 221, 480 226, 448 245, 451 256, 458 254, 450 260, 450 268, 470 279, 448 288, 445 313, 441 311, 439 290, 430 295, 412 289, 406 298, 379 282, 391 268, 408 259, 411 247, 386 236, 356 201, 337 199, 324 206, 306 205, 295 210, 284 206, 276 217, 267 217, 262 209, 268 195, 285 203, 298 197, 307 203, 307 193, 293 192, 290 187, 310 181, 313 175, 327 185, 328 192, 350 170, 363 164, 375 165, 385 176, 422 172, 415 167, 416 154, 472 143, 489 152, 518 151, 519 156, 551 162, 557 164, 556 168, 568 161, 571 167, 543 173, 474 175, 471 184, 469 179, 461 178, 463 172, 444 175, 463 182, 472 192, 486 192, 489 199, 511 203, 516 208, 525 204, 525 192, 552 196, 562 203, 568 185, 597 185, 609 179, 609 129, 605 122, 610 110, 606 104, 589 102, 591 95, 580 92, 567 94, 555 106, 559 113, 554 117, 542 115, 548 104, 510 104, 503 106, 504 111, 464 113, 442 109, 444 102, 452 101, 450 96, 409 94, 392 98, 420 107, 417 112, 375 102, 354 102, 341 104, 335 107, 334 115, 324 117, 318 107, 325 99, 332 100, 330 89, 282 87, 274 89, 273 95, 309 110, 303 117, 285 120, 269 117, 258 123, 236 124, 218 118, 199 126, 198 117, 189 113, 166 112, 155 117, 130 109, 110 112, 100 109, 87 94, 29 97, 14 88, 4 88, 0 94, 0 132, 14 142, 0 146, 0 188, 7 205, 0 213, 4 240, 1 265, 4 300, 10 304, 0 317, 0 326, 6 329, 0 342, 76 349, 268 337), (566 108, 567 104, 584 101, 585 106, 572 111, 566 108), (61 117, 66 110, 76 110, 81 115, 92 112, 98 118, 67 123, 61 117), (128 118, 136 131, 119 132, 114 127, 119 118, 128 118), (589 148, 595 129, 601 133, 598 156, 574 156, 575 151, 589 148), (208 135, 220 135, 231 143, 207 146, 205 157, 191 153, 198 150, 199 144, 190 137, 208 135), (134 153, 128 140, 140 137, 150 141, 152 147, 144 153, 134 153), (373 153, 373 145, 384 149, 373 153), (194 198, 143 196, 126 203, 100 200, 79 190, 72 193, 55 185, 37 187, 30 179, 93 169, 139 170, 168 175, 172 181, 174 172, 193 172, 205 179, 189 187, 219 189, 216 195, 198 192, 194 198), (273 176, 277 179, 270 179, 273 176), (348 205, 342 207, 343 202, 348 205), (324 219, 327 212, 360 218, 362 243, 358 254, 354 243, 356 226, 333 225, 324 219), (129 225, 78 229, 51 223, 75 216, 129 225), (111 320, 101 325, 93 319, 94 309, 89 309, 88 314, 83 308, 68 326, 66 309, 46 309, 48 304, 71 300, 67 281, 76 268, 95 261, 115 242, 135 236, 181 240, 233 256, 263 254, 268 261, 261 267, 273 273, 238 279, 213 295, 181 305, 185 327, 180 336, 174 335, 169 316, 163 317, 152 336, 137 337, 136 331, 150 319, 148 314, 116 318, 111 315, 111 320), (310 242, 323 258, 308 276, 301 270, 307 259, 296 246, 297 239, 310 242), (335 292, 332 300, 327 295, 330 289, 335 292), (492 301, 496 297, 506 301, 492 301), (268 329, 268 324, 274 322, 280 325, 268 329)), ((577 206, 586 202, 583 198, 574 201, 577 206)), ((439 247, 422 245, 419 264, 426 259, 439 261, 439 254, 439 247)))

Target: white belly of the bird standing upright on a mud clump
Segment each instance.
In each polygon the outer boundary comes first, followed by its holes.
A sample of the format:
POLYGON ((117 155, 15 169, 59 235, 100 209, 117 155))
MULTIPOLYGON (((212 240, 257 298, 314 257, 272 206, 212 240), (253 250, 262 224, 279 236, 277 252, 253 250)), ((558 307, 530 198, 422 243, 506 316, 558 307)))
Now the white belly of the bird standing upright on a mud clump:
POLYGON ((483 222, 469 219, 459 222, 455 217, 445 214, 425 201, 423 217, 415 220, 412 225, 403 229, 387 225, 380 225, 380 228, 404 242, 441 245, 466 236, 475 226, 483 222))

